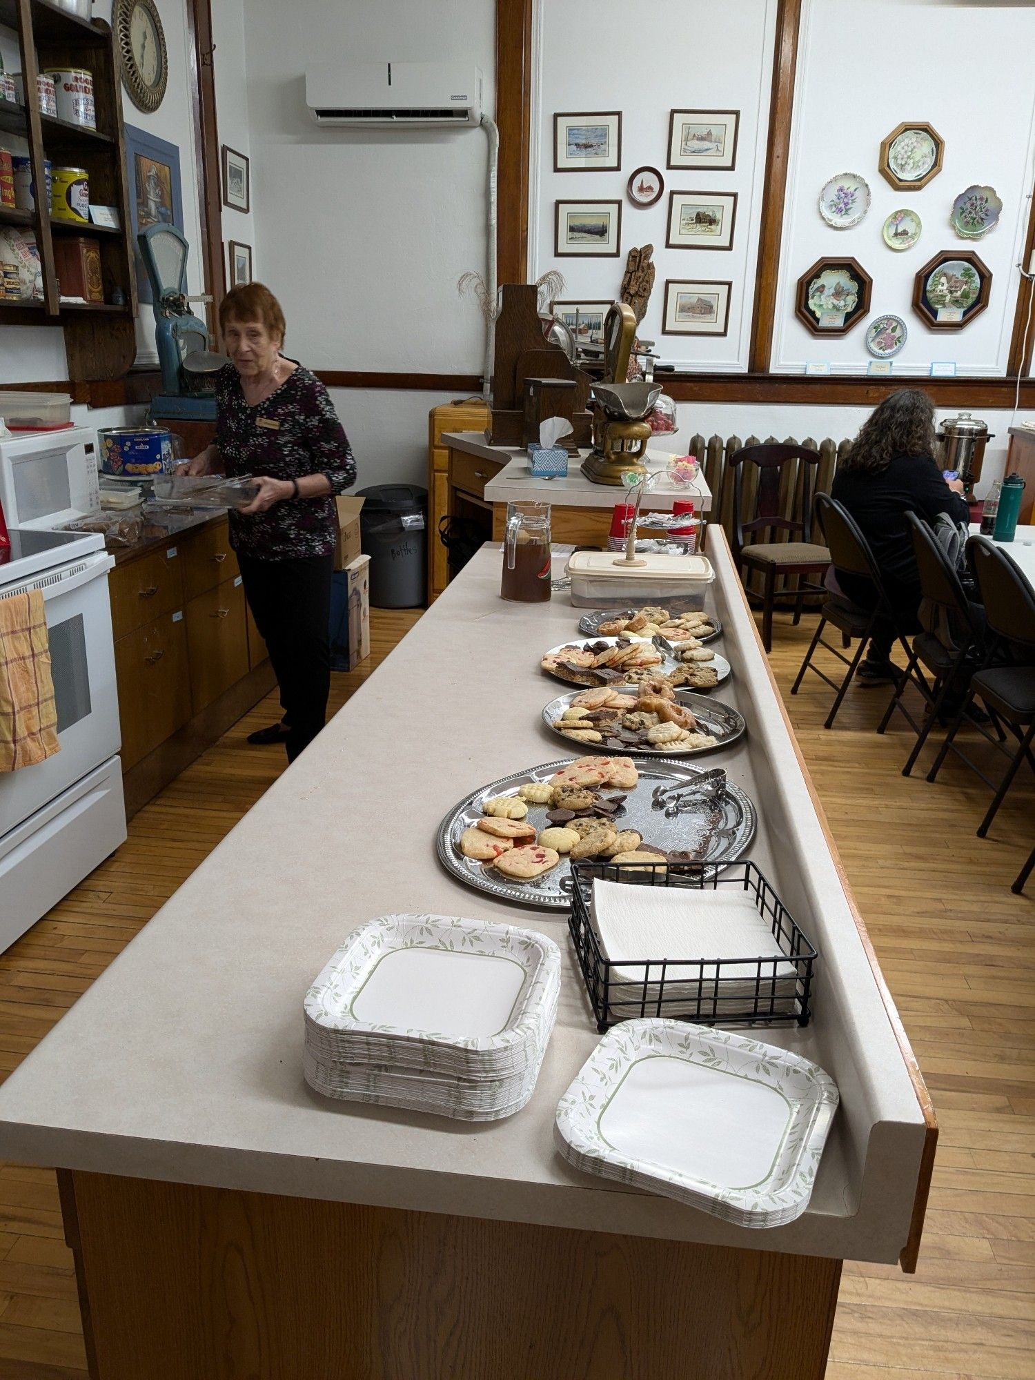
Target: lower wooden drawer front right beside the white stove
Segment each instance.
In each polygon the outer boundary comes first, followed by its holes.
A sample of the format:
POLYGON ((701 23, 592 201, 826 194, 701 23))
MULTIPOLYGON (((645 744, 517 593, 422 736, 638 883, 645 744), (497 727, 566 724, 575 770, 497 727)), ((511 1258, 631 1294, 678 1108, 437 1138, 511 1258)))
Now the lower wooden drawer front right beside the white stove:
POLYGON ((115 644, 123 771, 190 718, 186 622, 178 610, 137 628, 115 644))

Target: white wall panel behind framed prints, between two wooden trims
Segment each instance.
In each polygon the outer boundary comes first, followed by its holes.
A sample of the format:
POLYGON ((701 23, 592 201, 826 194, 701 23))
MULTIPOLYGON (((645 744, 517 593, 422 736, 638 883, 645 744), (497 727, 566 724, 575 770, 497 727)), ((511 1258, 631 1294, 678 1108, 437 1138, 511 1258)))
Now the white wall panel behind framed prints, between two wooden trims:
POLYGON ((656 0, 633 14, 628 0, 540 0, 535 7, 535 87, 529 246, 531 279, 556 268, 575 301, 614 299, 625 257, 651 243, 657 276, 640 335, 656 341, 665 363, 744 371, 758 259, 773 72, 773 0, 656 0), (702 47, 707 34, 707 57, 702 47), (622 166, 617 172, 553 172, 553 113, 622 112, 622 166), (668 170, 672 109, 740 110, 731 172, 668 170), (649 164, 665 179, 660 201, 633 206, 629 174, 649 164), (733 247, 665 248, 669 192, 737 192, 733 247), (618 258, 556 258, 555 201, 620 200, 618 258), (665 279, 733 282, 724 337, 662 335, 665 279))

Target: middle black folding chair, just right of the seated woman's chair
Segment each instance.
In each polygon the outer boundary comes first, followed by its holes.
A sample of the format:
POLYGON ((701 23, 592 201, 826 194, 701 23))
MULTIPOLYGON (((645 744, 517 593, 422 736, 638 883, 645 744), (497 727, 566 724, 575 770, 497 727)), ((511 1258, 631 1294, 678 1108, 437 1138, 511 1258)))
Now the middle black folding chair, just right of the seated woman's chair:
MULTIPOLYGON (((919 632, 914 638, 912 650, 920 665, 934 678, 931 687, 933 697, 926 698, 923 724, 909 753, 909 759, 903 767, 903 776, 909 776, 916 758, 923 749, 923 744, 938 722, 938 715, 943 712, 949 691, 962 691, 969 679, 967 668, 973 675, 980 665, 984 650, 984 620, 980 609, 967 599, 952 562, 936 541, 934 533, 927 523, 922 522, 912 512, 905 515, 905 520, 909 524, 916 569, 920 573, 920 593, 923 596, 919 609, 923 632, 919 632)), ((878 730, 879 733, 883 733, 887 727, 907 684, 909 682, 905 678, 898 682, 878 730)))

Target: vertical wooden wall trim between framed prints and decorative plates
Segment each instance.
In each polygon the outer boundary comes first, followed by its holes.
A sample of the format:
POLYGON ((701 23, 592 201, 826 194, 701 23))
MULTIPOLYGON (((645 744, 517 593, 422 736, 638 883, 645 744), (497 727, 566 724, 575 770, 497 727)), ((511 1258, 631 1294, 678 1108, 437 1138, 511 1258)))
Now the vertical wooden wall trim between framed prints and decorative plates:
POLYGON ((780 0, 773 48, 773 87, 769 102, 766 181, 762 193, 762 224, 755 273, 755 310, 751 319, 751 351, 748 355, 749 368, 758 374, 766 373, 773 356, 773 327, 780 286, 780 244, 784 235, 787 163, 791 153, 791 119, 800 22, 802 0, 780 0))

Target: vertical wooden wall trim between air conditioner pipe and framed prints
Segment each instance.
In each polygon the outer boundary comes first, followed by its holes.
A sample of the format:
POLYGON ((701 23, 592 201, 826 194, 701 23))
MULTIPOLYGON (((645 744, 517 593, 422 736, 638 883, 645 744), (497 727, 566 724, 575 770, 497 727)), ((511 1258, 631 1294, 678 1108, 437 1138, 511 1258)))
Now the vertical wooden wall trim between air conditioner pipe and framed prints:
MULTIPOLYGON (((497 277, 529 280, 529 127, 534 0, 495 0, 497 277)), ((480 385, 479 385, 480 386, 480 385)))

